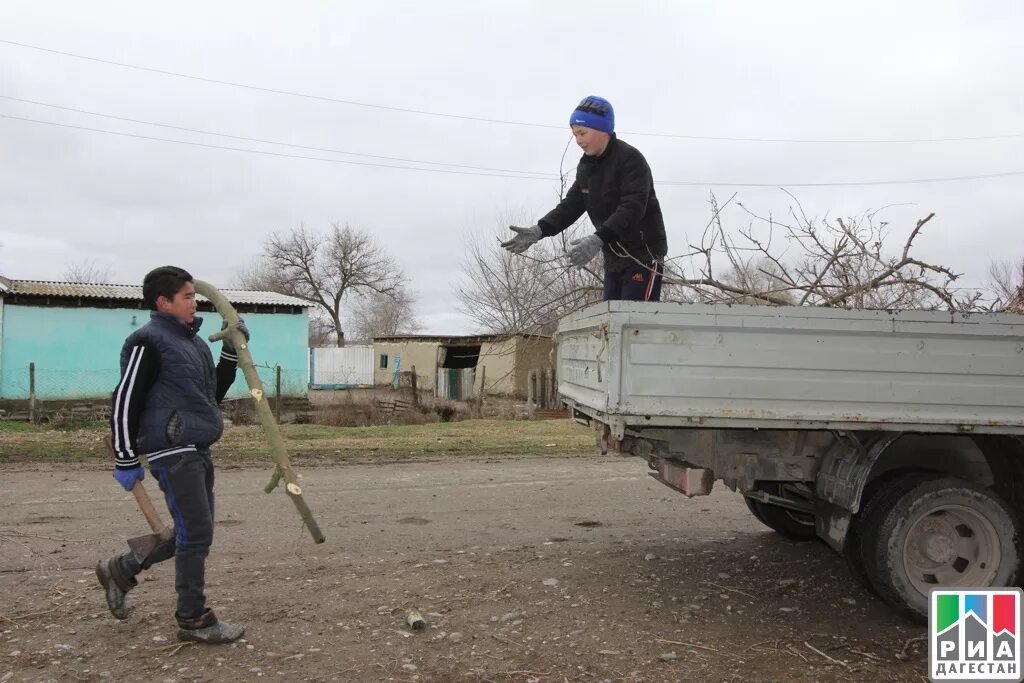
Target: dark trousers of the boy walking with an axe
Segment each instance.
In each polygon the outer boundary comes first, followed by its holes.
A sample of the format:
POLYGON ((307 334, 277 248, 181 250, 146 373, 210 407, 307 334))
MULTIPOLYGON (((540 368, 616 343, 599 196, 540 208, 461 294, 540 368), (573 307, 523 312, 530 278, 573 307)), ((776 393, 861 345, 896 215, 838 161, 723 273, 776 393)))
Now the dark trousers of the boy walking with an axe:
POLYGON ((209 454, 168 456, 150 471, 160 484, 174 520, 174 536, 139 562, 128 553, 120 558, 128 577, 174 558, 178 616, 196 618, 206 611, 206 557, 213 543, 213 461, 209 454))

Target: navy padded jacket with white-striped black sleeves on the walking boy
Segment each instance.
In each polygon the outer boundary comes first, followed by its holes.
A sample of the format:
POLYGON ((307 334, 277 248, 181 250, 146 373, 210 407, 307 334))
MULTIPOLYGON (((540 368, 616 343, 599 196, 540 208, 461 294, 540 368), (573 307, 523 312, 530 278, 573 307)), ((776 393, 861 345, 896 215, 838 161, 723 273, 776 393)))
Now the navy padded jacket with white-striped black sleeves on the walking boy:
POLYGON ((213 354, 198 336, 203 318, 190 326, 154 311, 150 323, 129 335, 121 349, 121 381, 114 392, 111 427, 116 466, 138 465, 167 456, 208 453, 220 438, 220 400, 234 380, 238 357, 213 354))

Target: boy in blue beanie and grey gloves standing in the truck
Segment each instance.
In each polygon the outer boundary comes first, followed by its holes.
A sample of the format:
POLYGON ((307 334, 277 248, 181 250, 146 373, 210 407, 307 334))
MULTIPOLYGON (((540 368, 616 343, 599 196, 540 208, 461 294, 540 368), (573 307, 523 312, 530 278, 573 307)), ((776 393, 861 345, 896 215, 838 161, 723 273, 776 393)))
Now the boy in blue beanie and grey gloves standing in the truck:
POLYGON ((512 225, 515 237, 502 247, 522 254, 586 211, 595 231, 569 244, 569 263, 582 267, 603 252, 605 301, 658 301, 669 247, 647 161, 615 136, 615 113, 603 97, 584 97, 569 116, 569 127, 583 150, 575 181, 537 224, 512 225))

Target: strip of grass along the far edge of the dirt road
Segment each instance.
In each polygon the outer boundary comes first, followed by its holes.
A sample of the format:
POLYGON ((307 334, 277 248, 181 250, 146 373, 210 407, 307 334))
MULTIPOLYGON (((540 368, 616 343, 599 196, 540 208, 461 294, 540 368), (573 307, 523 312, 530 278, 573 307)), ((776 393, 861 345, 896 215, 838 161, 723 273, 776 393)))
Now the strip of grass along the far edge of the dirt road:
MULTIPOLYGON (((584 455, 594 452, 589 429, 567 420, 465 420, 426 425, 330 427, 283 425, 290 456, 347 460, 380 456, 584 455)), ((102 423, 75 429, 53 429, 26 423, 0 423, 0 464, 5 462, 104 462, 102 423), (19 427, 10 428, 9 425, 19 427)), ((270 455, 263 429, 230 427, 214 446, 221 462, 261 460, 270 455)))

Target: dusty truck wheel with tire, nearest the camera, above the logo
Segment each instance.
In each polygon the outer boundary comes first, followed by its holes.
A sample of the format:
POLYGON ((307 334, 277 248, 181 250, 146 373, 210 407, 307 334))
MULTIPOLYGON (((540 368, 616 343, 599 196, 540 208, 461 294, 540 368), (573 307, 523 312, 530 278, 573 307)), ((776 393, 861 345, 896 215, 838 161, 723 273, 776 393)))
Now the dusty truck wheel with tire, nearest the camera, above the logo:
POLYGON ((1020 522, 990 489, 941 477, 883 495, 861 544, 867 577, 888 604, 925 621, 931 588, 1017 584, 1020 522))

